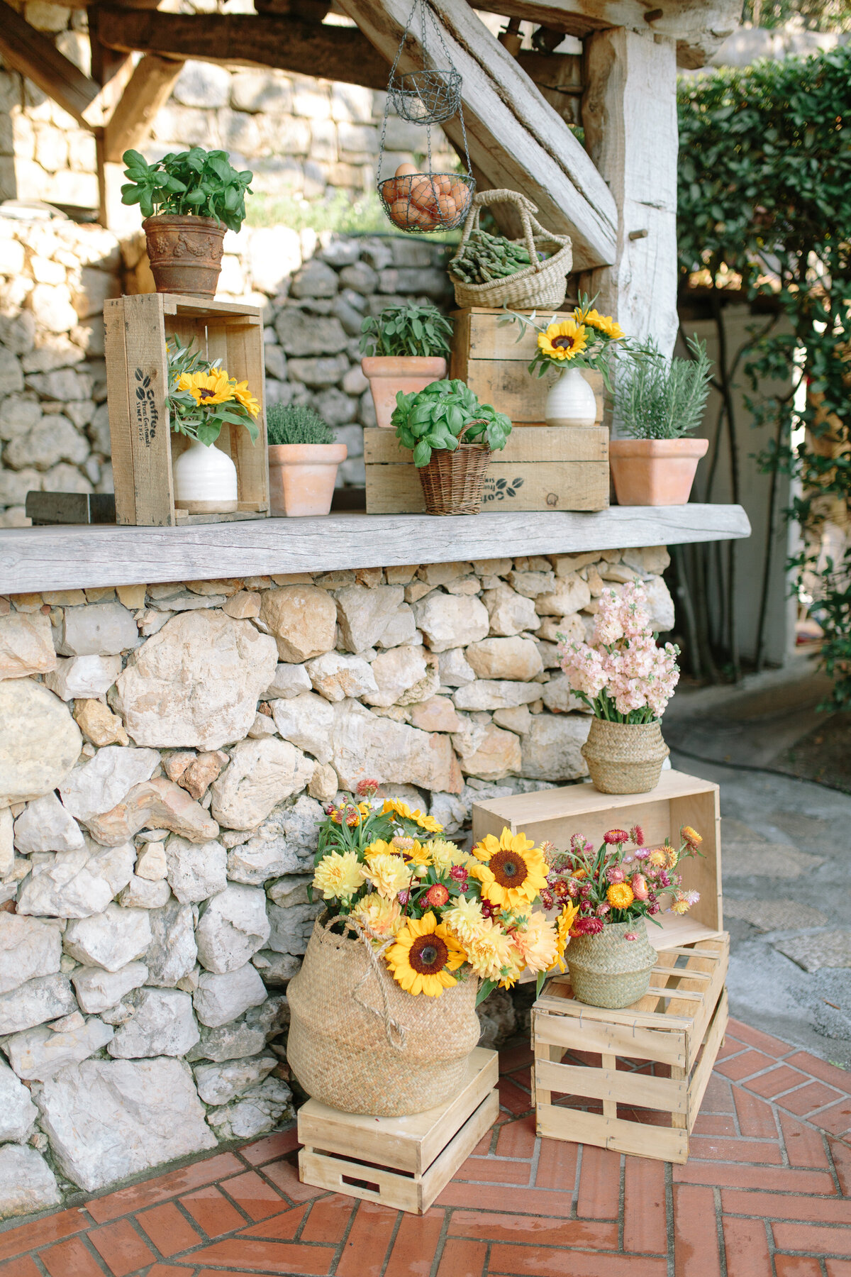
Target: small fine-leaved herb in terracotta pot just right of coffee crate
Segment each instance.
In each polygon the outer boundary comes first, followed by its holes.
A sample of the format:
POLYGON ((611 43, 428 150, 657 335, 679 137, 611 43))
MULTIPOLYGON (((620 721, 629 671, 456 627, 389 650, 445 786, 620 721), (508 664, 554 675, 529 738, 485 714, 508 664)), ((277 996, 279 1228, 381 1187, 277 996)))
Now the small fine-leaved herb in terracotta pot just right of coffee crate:
POLYGON ((301 404, 273 404, 265 418, 272 515, 327 515, 346 444, 337 443, 319 414, 301 404))

